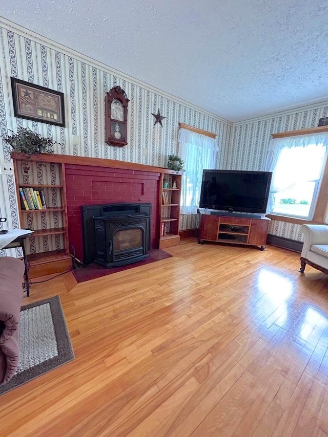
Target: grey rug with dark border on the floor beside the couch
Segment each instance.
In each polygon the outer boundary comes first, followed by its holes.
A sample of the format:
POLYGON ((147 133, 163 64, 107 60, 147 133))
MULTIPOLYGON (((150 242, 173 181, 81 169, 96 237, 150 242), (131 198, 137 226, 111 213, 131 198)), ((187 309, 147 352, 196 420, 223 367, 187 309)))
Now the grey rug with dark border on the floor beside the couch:
POLYGON ((75 358, 59 296, 20 309, 19 351, 18 369, 0 395, 75 358))

